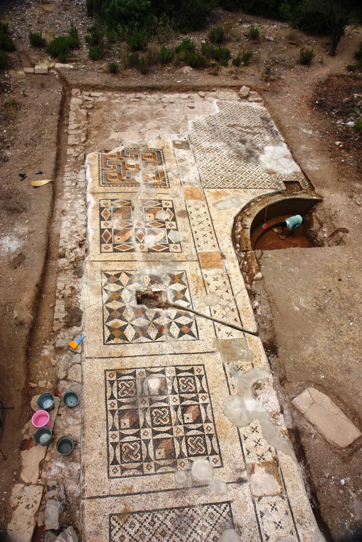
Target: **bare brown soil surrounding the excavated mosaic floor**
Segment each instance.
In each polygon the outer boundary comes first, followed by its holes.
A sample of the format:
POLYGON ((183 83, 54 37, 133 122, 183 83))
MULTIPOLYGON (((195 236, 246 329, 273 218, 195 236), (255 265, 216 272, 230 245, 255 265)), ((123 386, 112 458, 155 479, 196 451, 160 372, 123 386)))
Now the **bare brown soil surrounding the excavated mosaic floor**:
MULTIPOLYGON (((331 59, 327 37, 315 38, 297 31, 290 42, 287 25, 278 23, 274 27, 274 21, 219 10, 211 23, 226 23, 230 37, 226 45, 233 56, 243 46, 255 51, 249 67, 221 68, 214 76, 209 74, 210 67, 183 73, 180 66, 154 65, 142 76, 138 70, 121 64, 119 74, 110 75, 106 73, 107 62, 122 61, 124 47, 115 44, 98 62, 87 58, 83 37, 91 19, 84 2, 18 1, 8 4, 3 16, 10 22, 17 49, 10 55, 10 67, 0 73, 0 395, 5 405, 15 408, 7 411, 2 442, 8 459, 0 459, 0 537, 10 519, 11 487, 20 481, 21 428, 31 414, 29 399, 35 392, 53 391, 57 385, 55 369, 40 353, 53 331, 70 88, 180 93, 213 88, 238 90, 247 85, 259 89, 296 160, 325 198, 326 217, 332 217, 336 227, 350 231, 339 247, 258 253, 264 280, 253 289, 261 300, 257 320, 276 376, 278 396, 285 418, 293 427, 291 436, 299 455, 305 457, 310 497, 313 499, 315 492, 317 500, 313 503, 320 508, 327 537, 335 541, 357 540, 362 521, 361 443, 357 441, 347 450, 332 449, 291 409, 290 400, 313 385, 328 393, 361 428, 360 136, 353 131, 351 138, 352 132, 331 124, 339 115, 353 113, 351 93, 358 89, 361 92, 360 80, 346 72, 346 65, 353 62, 353 53, 359 48, 360 30, 347 29, 337 56, 331 59), (240 18, 244 24, 260 22, 269 26, 262 28, 257 42, 247 42, 247 29, 238 23, 240 18), (43 51, 28 47, 29 30, 43 30, 49 37, 66 33, 71 21, 82 43, 68 59, 74 68, 47 76, 24 74, 23 66, 51 62, 43 51), (269 40, 270 36, 274 41, 269 40), (310 67, 297 61, 304 45, 315 49, 310 67), (265 66, 272 66, 274 81, 265 80, 265 66), (350 100, 343 103, 346 97, 350 100), (335 141, 341 141, 342 146, 336 146, 335 141), (35 175, 38 170, 43 174, 35 175), (26 179, 20 179, 21 172, 26 173, 26 179), (39 178, 52 178, 54 182, 31 188, 30 181, 39 178), (38 386, 43 379, 47 381, 45 389, 38 386)), ((207 33, 208 28, 192 37, 201 46, 207 33)), ((169 44, 182 37, 170 37, 169 44)), ((144 123, 153 121, 155 114, 150 110, 144 123)), ((157 117, 161 114, 157 111, 157 117)), ((87 142, 89 151, 106 150, 97 148, 103 141, 102 119, 98 120, 99 135, 93 126, 94 139, 87 142)), ((141 120, 130 115, 124 136, 141 120)), ((180 122, 186 124, 187 120, 180 122)), ((152 125, 149 130, 153 130, 152 125)), ((147 130, 135 132, 135 137, 148 137, 147 130)), ((80 317, 77 313, 73 316, 74 322, 80 317)), ((43 536, 41 528, 34 540, 43 540, 43 536)))

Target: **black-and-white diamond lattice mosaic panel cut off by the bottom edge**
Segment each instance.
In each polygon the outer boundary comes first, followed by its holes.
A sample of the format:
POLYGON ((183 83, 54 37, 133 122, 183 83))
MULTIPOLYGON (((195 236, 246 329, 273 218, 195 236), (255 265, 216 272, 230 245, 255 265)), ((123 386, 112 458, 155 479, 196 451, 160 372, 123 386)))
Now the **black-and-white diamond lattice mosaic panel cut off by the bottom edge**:
POLYGON ((109 515, 109 542, 218 542, 234 527, 230 502, 109 515))

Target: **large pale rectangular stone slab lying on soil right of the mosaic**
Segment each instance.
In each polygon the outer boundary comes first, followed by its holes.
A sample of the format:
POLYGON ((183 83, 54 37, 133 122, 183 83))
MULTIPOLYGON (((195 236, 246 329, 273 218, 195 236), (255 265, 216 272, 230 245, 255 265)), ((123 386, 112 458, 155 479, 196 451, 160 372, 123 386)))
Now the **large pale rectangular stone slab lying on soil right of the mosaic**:
POLYGON ((334 448, 347 448, 362 436, 332 399, 315 388, 302 391, 292 404, 334 448))

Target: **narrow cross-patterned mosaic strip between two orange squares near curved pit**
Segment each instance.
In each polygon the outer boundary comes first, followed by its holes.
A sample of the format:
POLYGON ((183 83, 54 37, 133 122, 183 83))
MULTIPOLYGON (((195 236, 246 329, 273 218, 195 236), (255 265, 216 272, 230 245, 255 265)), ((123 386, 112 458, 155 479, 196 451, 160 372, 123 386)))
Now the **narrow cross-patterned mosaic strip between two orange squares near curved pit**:
POLYGON ((187 201, 187 211, 198 252, 219 250, 206 202, 187 201))

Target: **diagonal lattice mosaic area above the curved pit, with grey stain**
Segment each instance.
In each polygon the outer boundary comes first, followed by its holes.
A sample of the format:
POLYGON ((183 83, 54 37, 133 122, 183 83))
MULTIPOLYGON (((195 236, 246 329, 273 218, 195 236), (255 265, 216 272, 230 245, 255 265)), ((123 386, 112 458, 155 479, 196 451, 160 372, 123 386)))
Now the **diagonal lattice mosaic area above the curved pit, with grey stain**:
MULTIPOLYGON (((258 165, 264 146, 283 143, 268 112, 226 100, 218 107, 193 121, 189 134, 204 188, 283 189, 290 176, 270 175, 258 165)), ((306 183, 303 173, 292 175, 306 183)))

